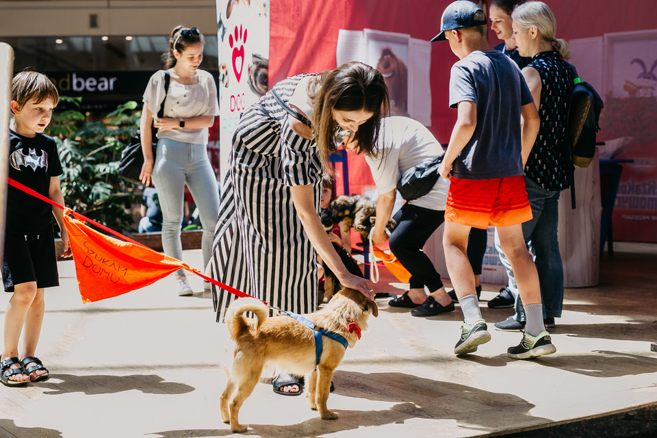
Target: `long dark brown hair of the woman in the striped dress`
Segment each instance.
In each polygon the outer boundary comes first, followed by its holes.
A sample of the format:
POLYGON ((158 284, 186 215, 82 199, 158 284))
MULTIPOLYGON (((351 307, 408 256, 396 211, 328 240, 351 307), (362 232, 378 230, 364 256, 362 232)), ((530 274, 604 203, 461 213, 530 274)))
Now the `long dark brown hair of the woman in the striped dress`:
POLYGON ((338 125, 331 110, 371 112, 372 117, 356 131, 357 153, 376 155, 381 118, 390 112, 383 75, 362 62, 348 62, 313 78, 308 87, 313 102, 313 132, 322 161, 331 168, 331 154, 337 152, 338 125))

